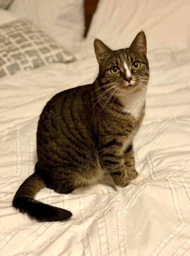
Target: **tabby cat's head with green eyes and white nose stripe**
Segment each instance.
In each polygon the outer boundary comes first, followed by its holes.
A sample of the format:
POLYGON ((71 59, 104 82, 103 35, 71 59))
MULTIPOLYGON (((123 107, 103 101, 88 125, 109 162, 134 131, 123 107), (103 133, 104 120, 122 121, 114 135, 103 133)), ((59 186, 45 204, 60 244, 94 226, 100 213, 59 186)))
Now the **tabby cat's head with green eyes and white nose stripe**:
POLYGON ((126 92, 146 89, 149 67, 143 31, 137 34, 129 48, 113 51, 102 41, 95 39, 94 49, 102 84, 110 83, 110 86, 122 88, 126 92))

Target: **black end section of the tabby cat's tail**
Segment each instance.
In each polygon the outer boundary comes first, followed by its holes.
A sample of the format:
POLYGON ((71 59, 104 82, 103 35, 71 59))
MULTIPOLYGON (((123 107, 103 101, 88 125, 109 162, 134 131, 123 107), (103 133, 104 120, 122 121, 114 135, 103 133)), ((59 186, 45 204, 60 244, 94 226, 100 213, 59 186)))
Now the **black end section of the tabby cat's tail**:
POLYGON ((12 206, 37 221, 64 221, 72 216, 70 211, 43 204, 29 197, 14 198, 12 206))

